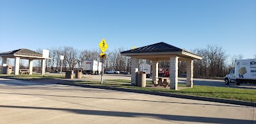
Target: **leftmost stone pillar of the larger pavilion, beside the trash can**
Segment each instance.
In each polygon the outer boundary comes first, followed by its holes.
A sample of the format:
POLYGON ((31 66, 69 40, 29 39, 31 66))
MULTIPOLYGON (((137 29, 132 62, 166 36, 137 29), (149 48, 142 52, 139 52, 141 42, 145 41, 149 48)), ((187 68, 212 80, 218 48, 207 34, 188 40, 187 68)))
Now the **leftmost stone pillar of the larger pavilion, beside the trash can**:
POLYGON ((136 72, 138 72, 139 70, 139 59, 138 58, 131 58, 132 59, 132 63, 131 63, 131 83, 132 86, 136 86, 137 85, 137 81, 136 81, 136 72))

